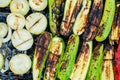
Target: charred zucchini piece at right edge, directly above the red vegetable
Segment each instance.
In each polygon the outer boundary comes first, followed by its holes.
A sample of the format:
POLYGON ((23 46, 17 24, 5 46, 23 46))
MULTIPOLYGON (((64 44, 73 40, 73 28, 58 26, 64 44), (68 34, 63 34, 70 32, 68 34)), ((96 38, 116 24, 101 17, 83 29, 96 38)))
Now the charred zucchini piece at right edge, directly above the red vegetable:
POLYGON ((111 34, 110 34, 110 41, 111 44, 114 44, 114 42, 118 42, 119 40, 119 33, 118 33, 118 28, 119 28, 119 15, 120 15, 120 4, 116 5, 116 12, 114 16, 114 21, 112 24, 112 29, 111 29, 111 34))

